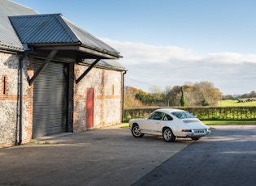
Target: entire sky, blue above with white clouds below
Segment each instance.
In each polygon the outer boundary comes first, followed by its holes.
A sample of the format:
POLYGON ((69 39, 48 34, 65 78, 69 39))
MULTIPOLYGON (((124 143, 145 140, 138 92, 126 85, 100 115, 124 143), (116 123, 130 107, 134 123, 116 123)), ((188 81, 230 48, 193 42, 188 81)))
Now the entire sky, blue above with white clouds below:
POLYGON ((256 91, 254 0, 13 0, 62 13, 118 50, 125 85, 150 91, 212 82, 224 95, 256 91))

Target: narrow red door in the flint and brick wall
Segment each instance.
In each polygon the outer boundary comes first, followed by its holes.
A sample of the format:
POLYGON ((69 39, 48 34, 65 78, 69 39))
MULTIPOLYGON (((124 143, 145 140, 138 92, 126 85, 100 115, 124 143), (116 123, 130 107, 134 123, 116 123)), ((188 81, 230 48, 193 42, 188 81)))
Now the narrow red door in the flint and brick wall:
POLYGON ((86 129, 93 128, 93 88, 86 91, 86 129))

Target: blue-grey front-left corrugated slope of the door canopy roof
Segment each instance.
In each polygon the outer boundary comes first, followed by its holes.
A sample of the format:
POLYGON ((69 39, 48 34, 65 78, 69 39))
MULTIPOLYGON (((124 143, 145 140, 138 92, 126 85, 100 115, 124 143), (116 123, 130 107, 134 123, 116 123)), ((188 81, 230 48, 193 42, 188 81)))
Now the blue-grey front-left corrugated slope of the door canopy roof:
POLYGON ((79 42, 60 14, 10 16, 15 31, 24 44, 79 42))

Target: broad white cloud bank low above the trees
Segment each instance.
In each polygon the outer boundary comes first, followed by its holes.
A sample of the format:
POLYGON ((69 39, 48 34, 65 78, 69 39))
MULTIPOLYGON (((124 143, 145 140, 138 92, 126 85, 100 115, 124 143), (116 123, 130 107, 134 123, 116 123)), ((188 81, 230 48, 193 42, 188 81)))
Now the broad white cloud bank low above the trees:
POLYGON ((223 94, 256 91, 256 55, 242 53, 209 53, 199 55, 192 49, 176 46, 154 46, 102 38, 118 50, 119 60, 128 73, 128 86, 149 91, 152 86, 167 87, 184 82, 209 81, 223 94))

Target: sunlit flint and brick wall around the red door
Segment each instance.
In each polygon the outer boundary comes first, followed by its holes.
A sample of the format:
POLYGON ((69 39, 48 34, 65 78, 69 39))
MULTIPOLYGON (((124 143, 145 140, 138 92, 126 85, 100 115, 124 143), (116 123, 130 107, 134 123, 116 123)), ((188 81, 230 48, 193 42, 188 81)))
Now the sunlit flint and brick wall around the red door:
MULTIPOLYGON (((75 66, 79 78, 86 66, 75 66)), ((93 88, 93 128, 121 122, 122 72, 93 68, 78 84, 74 85, 74 132, 86 130, 86 90, 93 88)))

